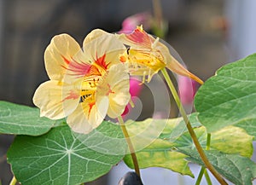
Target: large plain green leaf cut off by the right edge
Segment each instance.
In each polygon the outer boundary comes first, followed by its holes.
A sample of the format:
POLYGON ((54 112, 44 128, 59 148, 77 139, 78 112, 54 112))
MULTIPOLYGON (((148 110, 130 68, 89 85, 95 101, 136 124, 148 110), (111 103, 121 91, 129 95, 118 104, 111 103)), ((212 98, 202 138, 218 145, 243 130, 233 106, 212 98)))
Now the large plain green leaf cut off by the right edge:
MULTIPOLYGON (((221 67, 195 95, 201 124, 213 132, 224 126, 256 124, 256 54, 221 67)), ((252 127, 255 136, 255 127, 252 127)))

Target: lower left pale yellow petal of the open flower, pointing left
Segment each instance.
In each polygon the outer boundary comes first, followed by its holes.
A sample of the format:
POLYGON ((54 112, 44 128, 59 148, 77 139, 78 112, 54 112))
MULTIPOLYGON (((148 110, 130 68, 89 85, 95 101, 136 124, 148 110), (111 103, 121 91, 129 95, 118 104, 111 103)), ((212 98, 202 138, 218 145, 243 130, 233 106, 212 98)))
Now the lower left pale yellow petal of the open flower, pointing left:
POLYGON ((71 85, 49 80, 41 84, 33 96, 34 104, 40 108, 40 116, 62 119, 72 113, 79 104, 80 95, 71 85))

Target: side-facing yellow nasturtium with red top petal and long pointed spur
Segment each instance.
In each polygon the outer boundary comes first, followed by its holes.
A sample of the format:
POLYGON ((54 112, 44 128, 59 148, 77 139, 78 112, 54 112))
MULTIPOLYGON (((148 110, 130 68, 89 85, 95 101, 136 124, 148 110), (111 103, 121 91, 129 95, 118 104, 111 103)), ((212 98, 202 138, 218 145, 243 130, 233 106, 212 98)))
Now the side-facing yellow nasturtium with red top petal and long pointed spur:
POLYGON ((119 40, 128 46, 119 60, 128 64, 131 75, 148 76, 149 82, 155 73, 167 67, 172 72, 194 79, 200 84, 202 80, 184 68, 171 54, 160 38, 154 38, 143 30, 143 26, 137 26, 130 34, 117 35, 119 40))

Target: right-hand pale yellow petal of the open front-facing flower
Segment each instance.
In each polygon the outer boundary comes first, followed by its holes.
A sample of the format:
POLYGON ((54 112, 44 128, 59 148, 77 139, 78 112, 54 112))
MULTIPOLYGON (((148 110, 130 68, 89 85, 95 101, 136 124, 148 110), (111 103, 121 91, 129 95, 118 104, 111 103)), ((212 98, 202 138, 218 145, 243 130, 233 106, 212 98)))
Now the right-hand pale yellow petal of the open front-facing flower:
MULTIPOLYGON (((101 100, 103 96, 108 96, 108 116, 113 119, 117 118, 124 112, 125 106, 131 99, 129 90, 129 75, 125 65, 111 66, 108 74, 103 77, 97 87, 96 102, 101 100)), ((98 105, 100 105, 99 102, 98 105)))

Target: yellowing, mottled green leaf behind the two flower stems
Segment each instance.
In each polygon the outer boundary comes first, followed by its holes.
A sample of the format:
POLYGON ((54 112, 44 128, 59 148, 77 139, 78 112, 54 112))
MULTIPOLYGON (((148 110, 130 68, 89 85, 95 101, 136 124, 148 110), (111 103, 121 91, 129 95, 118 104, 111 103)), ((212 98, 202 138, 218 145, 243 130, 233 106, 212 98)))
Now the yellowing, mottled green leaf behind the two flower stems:
MULTIPOLYGON (((201 146, 206 147, 207 130, 204 126, 198 127, 200 124, 197 123, 195 116, 196 114, 192 114, 189 120, 194 125, 195 134, 201 146)), ((132 133, 132 136, 135 133, 140 133, 140 130, 145 129, 149 120, 152 128, 163 123, 165 124, 165 128, 162 130, 160 136, 154 138, 154 142, 137 151, 139 166, 141 168, 158 166, 183 175, 193 176, 191 171, 189 171, 186 153, 183 153, 183 150, 193 150, 195 149, 195 145, 182 119, 146 119, 128 124, 127 130, 132 133), (175 134, 172 134, 172 132, 175 132, 175 134)), ((137 146, 136 140, 133 142, 137 146)), ((243 156, 251 157, 253 153, 252 142, 253 136, 249 136, 245 130, 235 126, 229 126, 212 133, 211 149, 224 153, 239 153, 243 156)), ((133 168, 130 154, 125 155, 124 160, 126 165, 133 168)))

